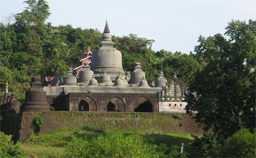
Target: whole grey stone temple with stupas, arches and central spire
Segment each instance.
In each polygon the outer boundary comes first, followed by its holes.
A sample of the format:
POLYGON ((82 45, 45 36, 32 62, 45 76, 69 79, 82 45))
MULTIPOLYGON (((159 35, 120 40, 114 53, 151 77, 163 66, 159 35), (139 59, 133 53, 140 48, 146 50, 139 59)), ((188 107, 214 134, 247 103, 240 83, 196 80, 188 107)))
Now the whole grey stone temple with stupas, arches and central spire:
MULTIPOLYGON (((91 64, 84 64, 76 76, 72 68, 66 77, 55 73, 51 87, 42 87, 40 77, 33 77, 20 111, 184 112, 187 90, 176 75, 167 82, 160 71, 149 86, 139 62, 133 72, 123 71, 122 54, 113 46, 106 22, 101 48, 92 53, 91 64)), ((18 105, 11 98, 9 104, 18 105)), ((10 112, 8 99, 4 105, 10 112)))

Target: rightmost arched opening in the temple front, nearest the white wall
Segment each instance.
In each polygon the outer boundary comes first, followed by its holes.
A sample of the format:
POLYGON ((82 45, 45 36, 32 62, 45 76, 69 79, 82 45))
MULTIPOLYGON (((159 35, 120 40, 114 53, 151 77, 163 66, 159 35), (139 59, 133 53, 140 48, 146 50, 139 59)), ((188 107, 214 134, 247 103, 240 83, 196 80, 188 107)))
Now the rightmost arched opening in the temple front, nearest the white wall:
POLYGON ((153 112, 153 105, 146 97, 140 97, 135 103, 134 112, 153 112))

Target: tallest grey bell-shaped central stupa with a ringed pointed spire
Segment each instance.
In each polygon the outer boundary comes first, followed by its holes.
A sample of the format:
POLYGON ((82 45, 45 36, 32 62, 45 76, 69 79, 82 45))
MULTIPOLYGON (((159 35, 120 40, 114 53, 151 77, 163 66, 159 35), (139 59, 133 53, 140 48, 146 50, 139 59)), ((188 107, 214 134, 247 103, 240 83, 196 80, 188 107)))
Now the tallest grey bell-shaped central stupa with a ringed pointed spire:
POLYGON ((110 29, 106 21, 101 48, 92 54, 91 68, 96 79, 99 79, 104 72, 107 72, 112 81, 116 79, 119 73, 124 74, 122 54, 113 46, 114 42, 111 40, 110 29))

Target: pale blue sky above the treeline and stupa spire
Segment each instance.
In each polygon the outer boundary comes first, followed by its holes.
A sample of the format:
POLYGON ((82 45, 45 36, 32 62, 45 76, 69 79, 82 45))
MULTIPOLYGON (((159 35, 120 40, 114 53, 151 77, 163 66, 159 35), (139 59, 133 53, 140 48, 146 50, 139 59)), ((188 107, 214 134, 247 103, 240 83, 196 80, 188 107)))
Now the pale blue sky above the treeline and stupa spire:
MULTIPOLYGON (((104 30, 111 34, 137 34, 155 40, 152 49, 189 53, 199 35, 224 34, 231 20, 256 19, 256 0, 46 0, 53 25, 104 30)), ((0 22, 22 12, 22 0, 0 0, 0 22)))

